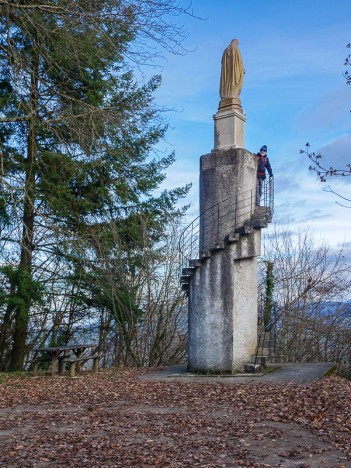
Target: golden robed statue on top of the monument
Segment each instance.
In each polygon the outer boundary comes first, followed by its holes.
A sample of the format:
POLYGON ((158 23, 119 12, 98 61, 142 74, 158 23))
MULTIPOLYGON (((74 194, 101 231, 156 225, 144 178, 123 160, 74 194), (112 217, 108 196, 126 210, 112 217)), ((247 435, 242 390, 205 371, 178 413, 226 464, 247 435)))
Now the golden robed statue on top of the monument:
POLYGON ((239 98, 243 86, 245 69, 238 44, 238 39, 233 39, 223 52, 219 87, 222 99, 239 98))

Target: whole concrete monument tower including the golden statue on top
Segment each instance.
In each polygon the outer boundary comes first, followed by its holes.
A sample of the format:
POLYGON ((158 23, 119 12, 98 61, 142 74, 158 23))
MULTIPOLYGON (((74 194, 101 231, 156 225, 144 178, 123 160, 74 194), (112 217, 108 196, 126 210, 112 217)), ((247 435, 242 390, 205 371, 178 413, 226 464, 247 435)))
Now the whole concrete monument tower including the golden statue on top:
POLYGON ((195 257, 184 249, 188 265, 182 276, 189 294, 188 369, 194 372, 242 369, 257 346, 257 256, 264 224, 255 203, 257 158, 244 149, 243 79, 233 39, 222 57, 214 149, 200 158, 201 214, 185 233, 198 242, 195 257))

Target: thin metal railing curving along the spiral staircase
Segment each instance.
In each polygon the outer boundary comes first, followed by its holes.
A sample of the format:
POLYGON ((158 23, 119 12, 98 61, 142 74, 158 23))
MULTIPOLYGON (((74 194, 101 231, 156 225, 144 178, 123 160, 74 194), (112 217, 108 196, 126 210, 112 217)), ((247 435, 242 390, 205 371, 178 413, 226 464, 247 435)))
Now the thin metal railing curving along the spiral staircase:
POLYGON ((190 260, 201 259, 206 252, 224 244, 227 236, 239 229, 265 227, 260 220, 272 220, 274 210, 273 178, 263 182, 260 208, 255 206, 256 190, 229 197, 203 211, 183 231, 179 239, 180 271, 190 260), (259 216, 255 214, 260 211, 259 216))

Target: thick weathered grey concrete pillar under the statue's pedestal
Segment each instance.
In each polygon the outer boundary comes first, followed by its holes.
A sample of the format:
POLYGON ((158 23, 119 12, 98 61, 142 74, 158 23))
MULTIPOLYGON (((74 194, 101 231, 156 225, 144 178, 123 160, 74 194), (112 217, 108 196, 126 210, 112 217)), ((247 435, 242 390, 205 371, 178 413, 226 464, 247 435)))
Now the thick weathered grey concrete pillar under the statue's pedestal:
POLYGON ((255 353, 261 234, 233 235, 255 210, 256 173, 255 156, 244 149, 201 158, 200 254, 211 256, 190 279, 189 371, 233 372, 255 353), (224 244, 227 236, 232 242, 224 244))

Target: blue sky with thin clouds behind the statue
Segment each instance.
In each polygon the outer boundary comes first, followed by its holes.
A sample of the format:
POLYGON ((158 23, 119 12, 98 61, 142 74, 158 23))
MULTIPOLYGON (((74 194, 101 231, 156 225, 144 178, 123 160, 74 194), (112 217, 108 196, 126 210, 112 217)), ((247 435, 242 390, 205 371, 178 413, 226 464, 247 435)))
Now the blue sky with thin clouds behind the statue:
MULTIPOLYGON (((299 154, 308 141, 344 167, 351 162, 351 87, 342 73, 351 42, 351 1, 193 0, 194 14, 179 18, 189 32, 185 56, 167 55, 158 104, 168 115, 168 149, 177 162, 167 187, 193 182, 188 197, 198 209, 199 158, 213 149, 213 114, 219 103, 220 61, 234 37, 246 70, 241 93, 245 147, 266 144, 275 176, 276 223, 308 224, 333 247, 351 252, 351 210, 336 204, 326 184, 299 154)), ((328 160, 329 164, 329 160, 328 160)), ((329 164, 331 165, 331 164, 329 164)), ((331 180, 351 196, 351 177, 331 180)))

